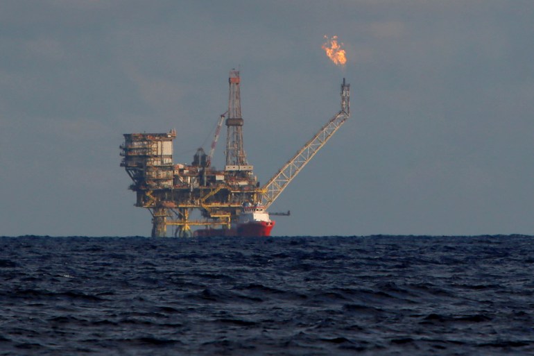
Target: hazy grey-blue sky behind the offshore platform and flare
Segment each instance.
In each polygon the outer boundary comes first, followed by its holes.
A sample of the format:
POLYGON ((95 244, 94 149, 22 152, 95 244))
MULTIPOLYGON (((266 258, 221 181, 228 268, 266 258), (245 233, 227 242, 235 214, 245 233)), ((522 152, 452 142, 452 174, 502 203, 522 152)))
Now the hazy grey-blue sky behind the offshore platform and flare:
POLYGON ((533 19, 532 0, 3 0, 0 235, 150 235, 122 134, 175 128, 191 163, 234 67, 261 183, 351 85, 273 235, 534 234, 533 19))

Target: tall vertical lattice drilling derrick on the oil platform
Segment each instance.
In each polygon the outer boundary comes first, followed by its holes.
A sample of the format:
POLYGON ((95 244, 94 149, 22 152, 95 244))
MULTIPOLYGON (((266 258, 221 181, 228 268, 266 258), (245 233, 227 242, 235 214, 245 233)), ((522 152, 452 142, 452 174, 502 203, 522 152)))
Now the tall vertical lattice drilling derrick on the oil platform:
POLYGON ((226 171, 248 170, 247 156, 243 150, 243 118, 241 117, 241 95, 239 94, 239 71, 230 71, 230 97, 226 119, 226 171))

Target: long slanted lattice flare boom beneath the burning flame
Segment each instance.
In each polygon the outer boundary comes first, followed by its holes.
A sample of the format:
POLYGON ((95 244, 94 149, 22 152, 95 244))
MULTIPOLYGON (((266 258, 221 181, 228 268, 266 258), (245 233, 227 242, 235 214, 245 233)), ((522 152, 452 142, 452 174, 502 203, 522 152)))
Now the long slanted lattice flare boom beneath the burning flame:
POLYGON ((264 193, 261 195, 261 205, 267 209, 282 191, 287 187, 291 180, 297 176, 302 168, 313 158, 313 156, 325 146, 328 139, 336 133, 341 125, 350 115, 349 105, 350 84, 345 84, 345 78, 341 84, 341 110, 332 117, 325 126, 316 133, 304 146, 300 149, 291 160, 288 160, 284 167, 270 178, 270 180, 262 187, 264 193))

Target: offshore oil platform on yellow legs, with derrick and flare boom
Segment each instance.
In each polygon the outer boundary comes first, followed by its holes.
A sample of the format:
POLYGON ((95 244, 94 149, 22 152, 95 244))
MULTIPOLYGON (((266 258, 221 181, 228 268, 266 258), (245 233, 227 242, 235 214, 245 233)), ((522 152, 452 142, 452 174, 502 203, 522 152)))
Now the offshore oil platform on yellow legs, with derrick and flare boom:
MULTIPOLYGON (((173 164, 173 139, 169 133, 124 134, 121 144, 121 167, 132 178, 130 189, 137 194, 135 206, 145 207, 152 214, 152 237, 166 236, 167 227, 174 227, 174 236, 260 235, 257 230, 246 234, 236 230, 236 224, 246 214, 266 217, 266 209, 295 178, 304 165, 313 158, 327 140, 336 133, 350 115, 350 85, 341 84, 341 110, 322 126, 302 148, 261 186, 248 164, 243 149, 243 118, 239 71, 230 71, 228 110, 221 115, 209 154, 198 149, 191 164, 173 164), (226 164, 223 170, 212 168, 214 149, 221 126, 227 127, 226 164), (192 213, 200 212, 193 219, 192 213), (206 233, 208 232, 208 233, 206 233)), ((268 235, 267 233, 261 235, 268 235)))

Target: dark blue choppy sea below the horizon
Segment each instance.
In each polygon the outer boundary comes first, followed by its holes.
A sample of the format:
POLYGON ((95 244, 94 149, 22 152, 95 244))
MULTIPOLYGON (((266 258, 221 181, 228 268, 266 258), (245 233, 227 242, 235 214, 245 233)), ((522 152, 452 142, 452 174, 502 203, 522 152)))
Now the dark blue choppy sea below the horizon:
POLYGON ((534 355, 534 237, 0 237, 0 355, 534 355))

